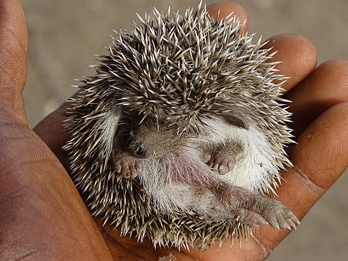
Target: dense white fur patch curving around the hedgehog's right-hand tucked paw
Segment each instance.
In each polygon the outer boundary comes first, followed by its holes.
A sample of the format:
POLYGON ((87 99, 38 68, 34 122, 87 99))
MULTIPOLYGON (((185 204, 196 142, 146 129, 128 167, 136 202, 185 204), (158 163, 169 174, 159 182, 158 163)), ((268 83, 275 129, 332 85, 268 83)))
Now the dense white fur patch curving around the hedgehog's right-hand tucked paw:
POLYGON ((228 125, 222 120, 207 120, 209 131, 202 141, 212 144, 223 144, 236 141, 242 144, 242 155, 230 173, 221 178, 230 180, 232 184, 246 189, 261 190, 264 184, 271 184, 270 180, 278 179, 278 168, 274 151, 267 137, 252 124, 248 129, 228 125))

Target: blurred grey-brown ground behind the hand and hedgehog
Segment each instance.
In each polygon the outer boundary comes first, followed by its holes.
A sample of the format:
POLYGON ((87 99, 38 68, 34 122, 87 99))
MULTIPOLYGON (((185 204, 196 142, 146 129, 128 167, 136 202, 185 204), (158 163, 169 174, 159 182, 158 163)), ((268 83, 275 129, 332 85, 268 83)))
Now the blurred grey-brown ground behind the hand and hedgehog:
MULTIPOLYGON (((112 29, 130 29, 136 12, 196 7, 199 0, 22 0, 29 31, 29 75, 24 100, 30 127, 76 91, 73 79, 91 74, 92 54, 104 52, 112 29)), ((216 1, 207 0, 206 3, 216 1)), ((299 33, 311 40, 318 64, 348 59, 347 0, 240 0, 249 29, 264 39, 299 33)), ((334 88, 334 86, 333 86, 334 88)), ((343 175, 268 260, 347 260, 348 177, 343 175)))

